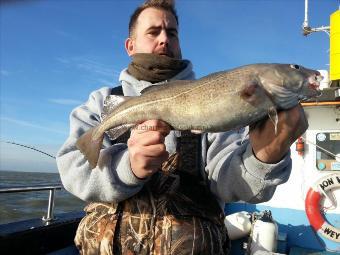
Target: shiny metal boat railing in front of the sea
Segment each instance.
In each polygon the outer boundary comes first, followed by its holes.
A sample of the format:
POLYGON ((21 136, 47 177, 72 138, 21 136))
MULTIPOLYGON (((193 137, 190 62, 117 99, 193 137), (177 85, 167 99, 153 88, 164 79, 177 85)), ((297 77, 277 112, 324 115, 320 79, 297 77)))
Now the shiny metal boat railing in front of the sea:
POLYGON ((37 185, 37 186, 18 186, 18 187, 7 187, 0 188, 1 193, 19 193, 19 192, 32 192, 32 191, 43 191, 49 190, 50 195, 48 199, 47 215, 42 217, 45 223, 50 223, 55 220, 54 217, 54 197, 56 190, 64 189, 62 185, 52 184, 52 185, 37 185))

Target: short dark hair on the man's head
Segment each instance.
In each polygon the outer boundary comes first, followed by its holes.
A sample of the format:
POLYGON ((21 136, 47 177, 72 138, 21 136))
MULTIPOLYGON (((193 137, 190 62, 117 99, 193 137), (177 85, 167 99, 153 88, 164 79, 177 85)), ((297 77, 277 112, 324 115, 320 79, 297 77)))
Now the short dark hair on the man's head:
POLYGON ((162 11, 168 11, 172 15, 174 15, 177 25, 178 25, 178 16, 175 9, 175 1, 174 0, 147 0, 144 4, 140 5, 131 15, 129 22, 129 37, 132 37, 133 31, 136 28, 136 23, 139 15, 142 11, 147 8, 155 8, 162 11))

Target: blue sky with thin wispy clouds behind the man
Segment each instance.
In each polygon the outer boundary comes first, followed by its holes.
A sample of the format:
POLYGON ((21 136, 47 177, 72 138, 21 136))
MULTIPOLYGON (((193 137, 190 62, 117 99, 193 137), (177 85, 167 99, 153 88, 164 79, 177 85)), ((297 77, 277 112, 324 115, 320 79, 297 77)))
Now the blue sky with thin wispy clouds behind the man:
MULTIPOLYGON (((197 78, 253 63, 328 69, 329 37, 302 35, 304 0, 177 0, 183 58, 197 78)), ((117 86, 130 59, 129 17, 142 1, 29 0, 0 4, 0 170, 57 172, 69 114, 91 91, 117 86)), ((328 26, 338 0, 309 0, 328 26)))

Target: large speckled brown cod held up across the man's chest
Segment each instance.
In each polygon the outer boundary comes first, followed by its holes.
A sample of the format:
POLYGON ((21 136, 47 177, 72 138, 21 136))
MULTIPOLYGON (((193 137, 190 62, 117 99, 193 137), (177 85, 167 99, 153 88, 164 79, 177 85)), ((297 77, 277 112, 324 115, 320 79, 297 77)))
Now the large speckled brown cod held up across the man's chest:
MULTIPOLYGON (((322 76, 295 64, 252 64, 210 74, 199 80, 154 85, 141 96, 127 97, 100 125, 84 133, 77 147, 96 167, 104 133, 116 137, 150 119, 175 130, 224 132, 255 123, 277 109, 316 97, 322 76)), ((116 138, 115 137, 115 138, 116 138)))

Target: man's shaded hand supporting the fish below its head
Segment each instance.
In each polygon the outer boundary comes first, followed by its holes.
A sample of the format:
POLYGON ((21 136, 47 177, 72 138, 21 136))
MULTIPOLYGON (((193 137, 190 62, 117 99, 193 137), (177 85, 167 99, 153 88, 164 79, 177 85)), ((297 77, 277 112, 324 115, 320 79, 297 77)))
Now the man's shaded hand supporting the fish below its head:
POLYGON ((308 128, 308 122, 300 105, 278 113, 277 134, 273 122, 250 127, 249 137, 254 155, 265 163, 280 161, 294 141, 308 128))

